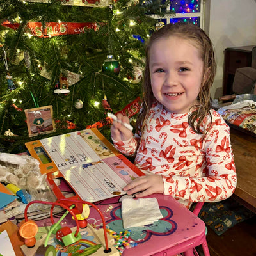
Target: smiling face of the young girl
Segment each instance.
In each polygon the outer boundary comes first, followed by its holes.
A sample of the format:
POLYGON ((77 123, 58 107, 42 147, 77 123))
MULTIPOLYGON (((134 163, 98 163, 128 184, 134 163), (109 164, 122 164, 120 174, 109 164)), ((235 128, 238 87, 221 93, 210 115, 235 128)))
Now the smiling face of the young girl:
POLYGON ((149 52, 154 97, 172 113, 188 113, 197 104, 203 68, 199 50, 189 40, 177 36, 157 40, 149 52))

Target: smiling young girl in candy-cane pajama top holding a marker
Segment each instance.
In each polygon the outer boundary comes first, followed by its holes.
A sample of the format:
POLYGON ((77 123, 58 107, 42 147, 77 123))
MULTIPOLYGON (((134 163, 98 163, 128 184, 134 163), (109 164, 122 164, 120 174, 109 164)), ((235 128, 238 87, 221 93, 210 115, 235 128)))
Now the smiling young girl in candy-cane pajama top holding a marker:
POLYGON ((146 175, 123 189, 136 197, 164 193, 190 207, 234 193, 236 169, 229 127, 211 109, 216 72, 211 40, 194 25, 167 24, 146 49, 144 102, 135 138, 118 114, 111 126, 115 147, 146 175))

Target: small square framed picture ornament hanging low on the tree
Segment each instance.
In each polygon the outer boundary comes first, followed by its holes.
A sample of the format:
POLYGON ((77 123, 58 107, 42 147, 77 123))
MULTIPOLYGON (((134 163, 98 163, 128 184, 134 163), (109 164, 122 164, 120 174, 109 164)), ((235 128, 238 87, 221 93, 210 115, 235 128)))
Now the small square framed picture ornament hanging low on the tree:
POLYGON ((52 106, 31 108, 25 110, 28 136, 47 134, 55 131, 55 123, 52 118, 52 106))

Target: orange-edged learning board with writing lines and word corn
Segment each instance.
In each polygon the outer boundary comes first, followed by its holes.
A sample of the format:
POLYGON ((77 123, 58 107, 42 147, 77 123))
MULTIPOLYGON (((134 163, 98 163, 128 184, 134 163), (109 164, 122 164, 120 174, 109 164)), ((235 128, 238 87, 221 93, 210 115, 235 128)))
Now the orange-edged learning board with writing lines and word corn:
POLYGON ((63 198, 54 179, 63 177, 82 200, 97 202, 123 195, 125 184, 143 175, 95 128, 25 144, 47 173, 52 191, 63 198))

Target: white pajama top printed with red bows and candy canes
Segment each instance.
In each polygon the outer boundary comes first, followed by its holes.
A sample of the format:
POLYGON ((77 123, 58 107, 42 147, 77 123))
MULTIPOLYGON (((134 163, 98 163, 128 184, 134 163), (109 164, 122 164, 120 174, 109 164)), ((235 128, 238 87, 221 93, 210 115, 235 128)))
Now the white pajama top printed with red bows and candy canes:
POLYGON ((213 109, 211 114, 204 137, 190 127, 188 113, 173 114, 155 102, 142 134, 113 143, 126 156, 136 153, 134 164, 146 175, 162 175, 164 194, 186 207, 218 202, 234 193, 237 177, 229 127, 213 109))

